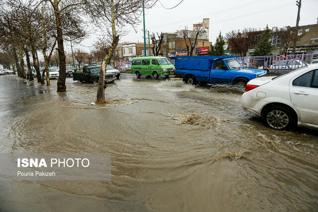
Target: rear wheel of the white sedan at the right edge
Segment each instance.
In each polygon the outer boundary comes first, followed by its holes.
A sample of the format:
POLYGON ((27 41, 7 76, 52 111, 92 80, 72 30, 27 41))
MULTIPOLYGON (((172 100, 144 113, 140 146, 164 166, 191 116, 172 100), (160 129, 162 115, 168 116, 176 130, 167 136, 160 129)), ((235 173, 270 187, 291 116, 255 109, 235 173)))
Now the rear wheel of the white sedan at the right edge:
POLYGON ((296 124, 293 113, 282 106, 267 108, 262 115, 265 126, 275 130, 289 130, 296 124))

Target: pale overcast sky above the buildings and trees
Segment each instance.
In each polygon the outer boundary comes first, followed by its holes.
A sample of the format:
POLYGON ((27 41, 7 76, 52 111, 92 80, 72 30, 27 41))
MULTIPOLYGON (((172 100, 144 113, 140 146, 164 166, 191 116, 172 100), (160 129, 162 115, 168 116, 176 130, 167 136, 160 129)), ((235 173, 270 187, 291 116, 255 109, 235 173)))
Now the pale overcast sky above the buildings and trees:
MULTIPOLYGON (((170 8, 181 0, 160 0, 164 7, 170 8)), ((220 30, 223 36, 233 29, 254 27, 263 29, 268 27, 295 26, 297 18, 296 0, 183 0, 173 9, 165 9, 159 2, 145 10, 146 30, 152 32, 175 32, 194 23, 202 22, 203 18, 210 18, 209 39, 213 43, 220 30)), ((318 0, 302 0, 300 25, 317 23, 318 0)), ((120 38, 120 42, 143 42, 143 22, 136 27, 137 33, 131 27, 130 33, 120 38)), ((76 45, 89 51, 98 33, 76 45)), ((67 45, 70 51, 70 45, 67 45)), ((74 49, 73 49, 74 50, 74 49)))

